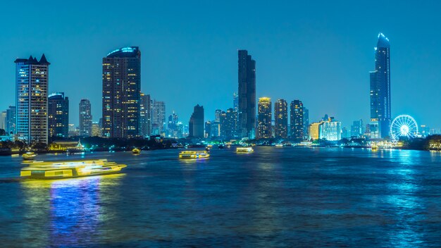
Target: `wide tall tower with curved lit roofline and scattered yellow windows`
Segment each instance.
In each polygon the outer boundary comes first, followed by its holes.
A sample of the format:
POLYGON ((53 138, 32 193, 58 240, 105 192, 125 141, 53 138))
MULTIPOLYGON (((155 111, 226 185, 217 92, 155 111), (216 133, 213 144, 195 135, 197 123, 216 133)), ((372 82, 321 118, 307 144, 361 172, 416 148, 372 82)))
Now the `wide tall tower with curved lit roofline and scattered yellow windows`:
POLYGON ((111 51, 103 58, 103 135, 139 134, 141 52, 137 46, 111 51))

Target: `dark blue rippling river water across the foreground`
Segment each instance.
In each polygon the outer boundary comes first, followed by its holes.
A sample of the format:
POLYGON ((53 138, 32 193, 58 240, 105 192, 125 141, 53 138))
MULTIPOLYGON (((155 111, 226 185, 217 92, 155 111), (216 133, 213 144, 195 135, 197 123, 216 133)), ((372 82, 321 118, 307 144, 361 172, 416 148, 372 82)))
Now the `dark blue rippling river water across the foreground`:
MULTIPOLYGON (((441 247, 441 154, 256 147, 87 154, 125 174, 0 180, 1 247, 441 247)), ((45 155, 39 160, 66 156, 45 155)), ((0 178, 19 157, 0 157, 0 178)))

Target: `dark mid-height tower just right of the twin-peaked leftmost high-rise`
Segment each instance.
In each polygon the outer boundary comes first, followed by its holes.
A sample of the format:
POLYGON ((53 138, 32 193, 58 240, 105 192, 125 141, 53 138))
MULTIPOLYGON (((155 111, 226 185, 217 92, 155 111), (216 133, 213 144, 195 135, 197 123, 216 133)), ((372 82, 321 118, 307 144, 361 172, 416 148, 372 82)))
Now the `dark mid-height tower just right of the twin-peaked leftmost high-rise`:
POLYGON ((49 137, 69 137, 69 98, 63 92, 48 97, 49 137))

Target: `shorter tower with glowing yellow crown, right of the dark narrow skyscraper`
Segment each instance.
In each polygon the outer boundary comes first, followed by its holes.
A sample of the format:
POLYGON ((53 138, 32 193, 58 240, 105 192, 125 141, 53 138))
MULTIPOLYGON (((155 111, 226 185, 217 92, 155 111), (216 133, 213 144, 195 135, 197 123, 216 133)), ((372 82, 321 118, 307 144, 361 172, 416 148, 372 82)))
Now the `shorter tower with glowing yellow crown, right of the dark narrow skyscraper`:
POLYGON ((257 137, 270 138, 271 137, 271 98, 259 98, 257 137))

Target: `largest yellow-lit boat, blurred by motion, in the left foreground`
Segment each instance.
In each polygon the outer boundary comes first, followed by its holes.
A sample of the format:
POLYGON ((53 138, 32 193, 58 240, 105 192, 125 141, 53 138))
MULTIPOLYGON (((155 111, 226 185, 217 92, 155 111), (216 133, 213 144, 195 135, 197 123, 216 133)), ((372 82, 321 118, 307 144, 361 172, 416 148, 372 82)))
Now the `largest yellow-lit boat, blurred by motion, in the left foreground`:
POLYGON ((34 179, 79 178, 120 173, 121 169, 125 167, 127 167, 125 164, 109 162, 107 159, 34 162, 21 169, 20 177, 34 179))

